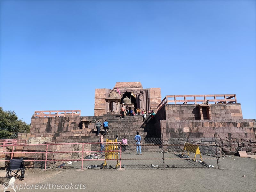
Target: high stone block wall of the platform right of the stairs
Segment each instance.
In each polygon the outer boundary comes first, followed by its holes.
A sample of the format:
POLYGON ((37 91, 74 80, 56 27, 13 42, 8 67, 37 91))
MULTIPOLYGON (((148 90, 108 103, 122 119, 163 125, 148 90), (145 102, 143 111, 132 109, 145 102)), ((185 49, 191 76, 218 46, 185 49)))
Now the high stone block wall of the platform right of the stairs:
POLYGON ((160 124, 156 124, 156 129, 161 130, 164 140, 202 141, 215 136, 223 154, 234 155, 237 151, 256 154, 256 122, 255 119, 238 119, 242 116, 240 104, 212 105, 211 120, 195 120, 195 114, 191 115, 193 108, 193 105, 166 105, 157 112, 160 124))

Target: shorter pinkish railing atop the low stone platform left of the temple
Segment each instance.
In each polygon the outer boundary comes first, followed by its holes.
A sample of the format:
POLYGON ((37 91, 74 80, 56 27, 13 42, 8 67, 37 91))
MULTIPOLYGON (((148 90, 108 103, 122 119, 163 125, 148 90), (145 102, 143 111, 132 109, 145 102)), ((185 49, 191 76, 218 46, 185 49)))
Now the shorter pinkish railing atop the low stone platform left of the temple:
POLYGON ((33 117, 61 117, 61 116, 80 116, 81 110, 60 110, 60 111, 35 111, 33 117))

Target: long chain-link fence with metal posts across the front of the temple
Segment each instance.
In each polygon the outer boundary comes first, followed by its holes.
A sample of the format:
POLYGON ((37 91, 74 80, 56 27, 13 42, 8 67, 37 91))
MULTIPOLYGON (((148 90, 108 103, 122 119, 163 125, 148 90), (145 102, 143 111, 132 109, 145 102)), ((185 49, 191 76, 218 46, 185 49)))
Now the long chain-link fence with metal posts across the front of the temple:
POLYGON ((219 168, 218 149, 212 138, 200 142, 188 138, 142 138, 140 144, 127 138, 127 144, 121 142, 122 139, 115 144, 105 142, 102 151, 95 139, 88 143, 9 146, 5 160, 23 157, 26 167, 39 169, 219 168))

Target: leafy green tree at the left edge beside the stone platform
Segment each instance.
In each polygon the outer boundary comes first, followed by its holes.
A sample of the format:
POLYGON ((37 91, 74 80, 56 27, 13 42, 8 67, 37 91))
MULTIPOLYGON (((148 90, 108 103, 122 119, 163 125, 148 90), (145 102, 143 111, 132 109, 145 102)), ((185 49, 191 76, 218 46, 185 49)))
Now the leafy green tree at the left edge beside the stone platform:
POLYGON ((18 133, 27 133, 30 125, 18 119, 15 111, 4 111, 0 107, 0 139, 14 139, 18 133))

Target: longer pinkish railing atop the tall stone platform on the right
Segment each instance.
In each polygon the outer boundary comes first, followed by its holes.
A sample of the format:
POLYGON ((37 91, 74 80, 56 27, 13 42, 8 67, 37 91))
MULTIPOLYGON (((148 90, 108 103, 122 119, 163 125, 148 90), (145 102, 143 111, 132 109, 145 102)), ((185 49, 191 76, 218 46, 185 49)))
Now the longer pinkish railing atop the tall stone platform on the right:
MULTIPOLYGON (((212 102, 215 104, 236 103, 236 95, 235 94, 232 94, 232 95, 230 95, 230 94, 229 95, 226 95, 226 94, 224 94, 224 95, 167 95, 164 97, 164 99, 161 101, 161 103, 157 106, 157 111, 160 108, 162 108, 165 104, 177 104, 177 102, 183 102, 183 104, 196 104, 199 102, 206 103, 207 100, 210 104, 212 102), (190 99, 188 97, 190 97, 190 99), (198 98, 198 97, 201 97, 201 98, 198 98), (203 99, 202 99, 202 97, 203 97, 203 99), (214 99, 211 99, 209 97, 212 97, 214 99), (219 97, 221 97, 221 98, 219 98, 219 97), (191 98, 193 98, 193 99, 191 99, 191 98), (188 102, 190 102, 190 103, 188 103, 188 102)), ((182 103, 178 103, 178 104, 182 104, 182 103)))

